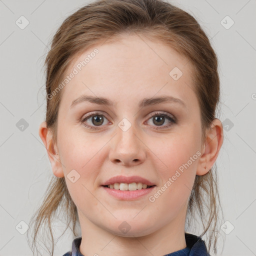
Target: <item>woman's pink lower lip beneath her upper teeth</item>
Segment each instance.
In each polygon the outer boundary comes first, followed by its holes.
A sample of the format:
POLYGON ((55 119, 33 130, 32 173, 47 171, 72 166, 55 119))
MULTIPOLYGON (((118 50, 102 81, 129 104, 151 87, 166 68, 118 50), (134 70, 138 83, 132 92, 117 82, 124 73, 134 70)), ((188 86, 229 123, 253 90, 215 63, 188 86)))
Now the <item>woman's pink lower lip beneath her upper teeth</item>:
POLYGON ((106 192, 108 192, 110 195, 122 199, 122 200, 132 200, 132 199, 137 199, 143 195, 146 195, 150 193, 155 186, 151 186, 148 188, 142 188, 142 189, 137 189, 137 190, 118 190, 118 189, 113 189, 113 188, 108 188, 105 186, 102 186, 106 192))

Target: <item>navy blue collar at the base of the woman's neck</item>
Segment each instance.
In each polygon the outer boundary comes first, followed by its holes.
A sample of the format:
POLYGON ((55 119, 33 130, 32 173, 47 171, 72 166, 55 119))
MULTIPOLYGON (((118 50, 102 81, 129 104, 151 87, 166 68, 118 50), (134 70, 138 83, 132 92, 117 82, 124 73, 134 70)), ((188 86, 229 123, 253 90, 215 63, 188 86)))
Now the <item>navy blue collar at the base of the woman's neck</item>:
MULTIPOLYGON (((63 256, 83 256, 79 250, 82 237, 73 239, 72 251, 66 252, 63 256)), ((207 252, 204 240, 200 236, 185 233, 186 247, 164 256, 210 256, 207 252)))

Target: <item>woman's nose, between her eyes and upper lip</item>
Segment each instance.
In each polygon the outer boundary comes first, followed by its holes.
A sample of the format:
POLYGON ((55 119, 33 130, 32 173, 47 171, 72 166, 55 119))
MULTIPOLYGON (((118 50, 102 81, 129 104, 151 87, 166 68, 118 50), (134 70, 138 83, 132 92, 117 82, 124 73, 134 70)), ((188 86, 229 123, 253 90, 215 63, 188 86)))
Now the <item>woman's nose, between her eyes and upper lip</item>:
POLYGON ((117 126, 117 134, 111 140, 109 159, 125 166, 134 166, 142 163, 146 157, 146 146, 139 136, 135 125, 127 130, 117 126))

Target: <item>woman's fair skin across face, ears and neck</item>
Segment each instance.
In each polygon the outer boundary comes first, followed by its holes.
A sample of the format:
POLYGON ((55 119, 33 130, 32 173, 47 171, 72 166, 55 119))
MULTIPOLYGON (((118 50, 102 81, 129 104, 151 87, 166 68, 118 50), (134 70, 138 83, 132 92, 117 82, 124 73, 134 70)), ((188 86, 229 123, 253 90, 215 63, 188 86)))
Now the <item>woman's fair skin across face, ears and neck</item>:
MULTIPOLYGON (((219 119, 213 120, 201 143, 199 104, 191 89, 190 62, 169 46, 141 38, 127 35, 97 45, 96 56, 62 88, 57 141, 53 146, 46 123, 42 122, 39 128, 53 174, 65 177, 77 206, 82 235, 79 249, 85 256, 164 255, 186 247, 184 223, 195 175, 208 172, 222 145, 219 119), (176 81, 169 75, 173 67, 183 72, 176 81), (106 97, 114 105, 84 101, 70 108, 82 94, 106 97), (177 97, 185 107, 168 101, 138 107, 144 97, 161 95, 177 97), (90 117, 86 123, 96 129, 89 129, 80 119, 96 110, 104 115, 103 123, 97 126, 90 117), (156 111, 174 116, 177 123, 171 124, 167 118, 161 124, 153 122, 149 114, 156 111), (118 126, 124 117, 131 124, 125 132, 118 126), (163 127, 168 124, 171 125, 163 127), (149 196, 196 151, 200 156, 150 202, 149 196), (67 178, 72 169, 80 175, 74 183, 67 178), (115 175, 139 175, 156 186, 135 200, 116 199, 100 186, 115 175), (123 221, 130 225, 126 233, 118 228, 123 221)), ((94 48, 77 56, 67 74, 94 48)))

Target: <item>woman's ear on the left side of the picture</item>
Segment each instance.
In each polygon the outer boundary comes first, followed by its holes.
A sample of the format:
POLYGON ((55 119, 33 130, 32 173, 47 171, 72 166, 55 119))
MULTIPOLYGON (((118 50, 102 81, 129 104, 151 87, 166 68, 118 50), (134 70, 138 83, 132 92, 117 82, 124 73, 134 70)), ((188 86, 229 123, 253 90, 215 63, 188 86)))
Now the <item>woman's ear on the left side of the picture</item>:
POLYGON ((54 149, 55 145, 52 145, 52 132, 47 128, 45 121, 40 124, 38 133, 47 150, 53 174, 56 177, 63 177, 59 154, 56 154, 57 149, 54 149))

